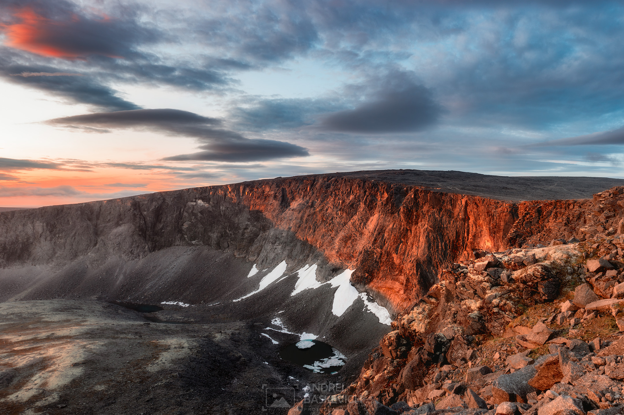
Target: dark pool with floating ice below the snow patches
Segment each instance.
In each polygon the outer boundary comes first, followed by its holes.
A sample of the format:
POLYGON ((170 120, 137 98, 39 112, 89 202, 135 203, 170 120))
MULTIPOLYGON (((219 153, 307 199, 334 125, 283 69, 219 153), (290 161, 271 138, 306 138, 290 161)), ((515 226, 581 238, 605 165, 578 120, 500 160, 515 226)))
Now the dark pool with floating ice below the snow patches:
POLYGON ((343 353, 320 340, 301 340, 280 351, 280 357, 314 373, 336 373, 346 361, 343 353))

